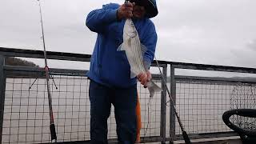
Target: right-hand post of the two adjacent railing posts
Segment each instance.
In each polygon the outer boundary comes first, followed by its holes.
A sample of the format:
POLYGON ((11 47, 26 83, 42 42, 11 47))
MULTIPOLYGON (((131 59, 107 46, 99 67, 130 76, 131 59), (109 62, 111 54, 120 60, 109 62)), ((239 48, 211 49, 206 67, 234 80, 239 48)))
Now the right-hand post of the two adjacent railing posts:
MULTIPOLYGON (((170 97, 174 100, 174 105, 176 105, 176 82, 174 78, 174 66, 170 66, 170 97)), ((170 102, 170 143, 174 142, 175 137, 175 110, 173 103, 170 102)))

